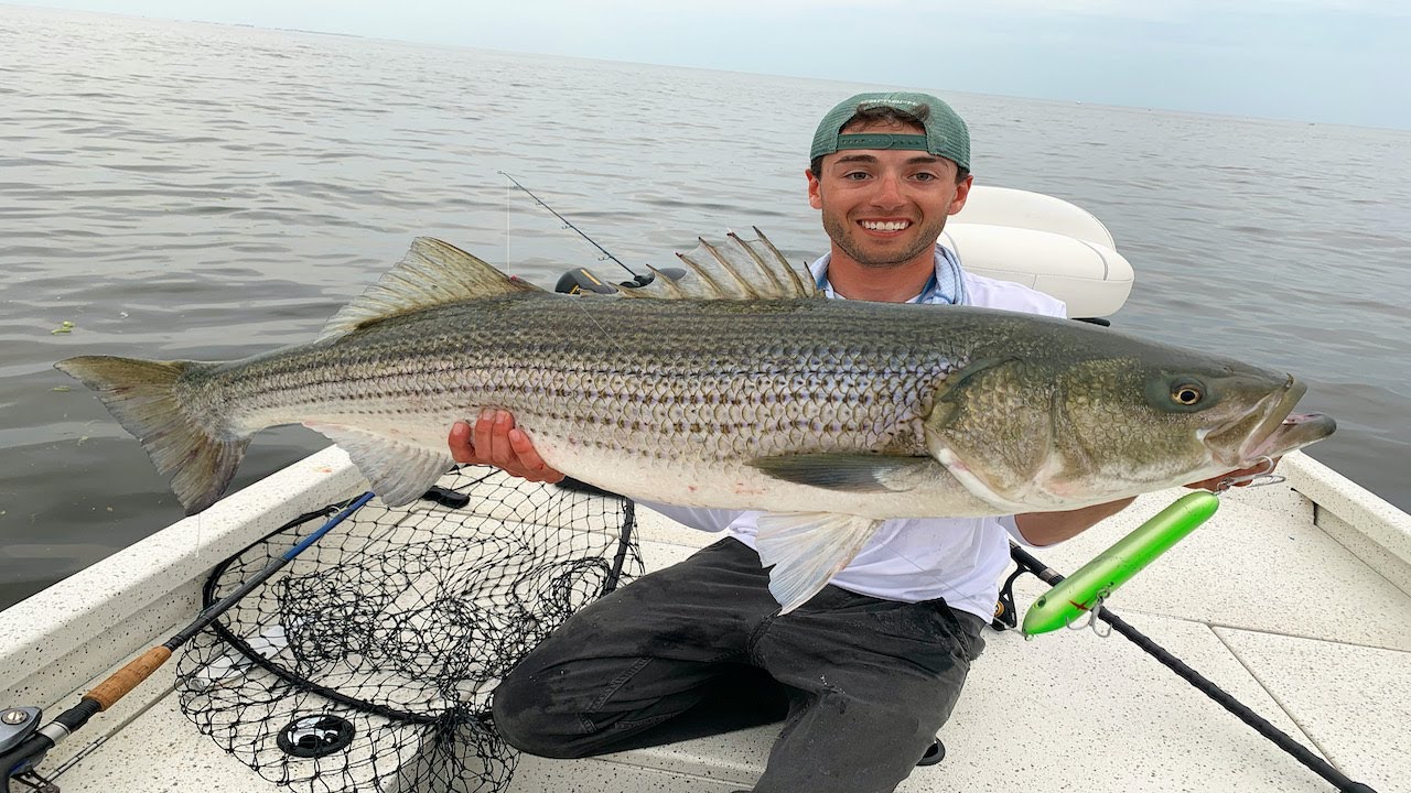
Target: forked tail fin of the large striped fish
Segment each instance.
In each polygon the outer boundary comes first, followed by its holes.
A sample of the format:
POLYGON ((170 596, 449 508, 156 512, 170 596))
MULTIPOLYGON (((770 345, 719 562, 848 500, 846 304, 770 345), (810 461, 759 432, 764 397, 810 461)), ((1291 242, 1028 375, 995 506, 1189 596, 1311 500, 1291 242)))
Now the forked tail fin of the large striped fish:
POLYGON ((220 498, 250 446, 248 433, 231 430, 216 413, 192 411, 182 398, 183 378, 213 365, 80 356, 54 368, 97 392, 123 429, 143 443, 157 470, 171 477, 186 514, 195 515, 220 498))

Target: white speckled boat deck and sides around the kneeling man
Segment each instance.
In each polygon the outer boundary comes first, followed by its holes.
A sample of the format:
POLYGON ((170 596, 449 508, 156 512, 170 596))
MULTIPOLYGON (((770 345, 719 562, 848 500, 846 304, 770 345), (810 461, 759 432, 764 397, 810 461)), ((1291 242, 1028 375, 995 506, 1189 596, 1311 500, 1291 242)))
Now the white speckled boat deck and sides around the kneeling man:
MULTIPOLYGON (((1109 605, 1353 780, 1408 792, 1411 518, 1302 454, 1280 473, 1287 484, 1226 497, 1209 523, 1109 605)), ((220 529, 224 518, 268 507, 262 533, 357 487, 341 453, 320 453, 8 610, 0 615, 3 698, 42 704, 49 717, 75 704, 117 659, 192 618, 202 570, 257 536, 220 529), (277 498, 291 492, 301 492, 296 504, 277 498)), ((1070 573, 1175 495, 1144 497, 1034 555, 1070 573)), ((641 514, 639 538, 648 569, 711 539, 650 512, 641 514)), ((1023 577, 1019 608, 1044 588, 1023 577)), ((943 731, 944 762, 916 769, 899 790, 1333 789, 1122 636, 1061 631, 1024 641, 986 631, 986 642, 943 731)), ((65 792, 277 790, 196 731, 174 683, 175 662, 95 717, 44 769, 80 756, 56 779, 65 792)), ((587 761, 522 756, 511 790, 727 793, 751 786, 773 732, 587 761)))

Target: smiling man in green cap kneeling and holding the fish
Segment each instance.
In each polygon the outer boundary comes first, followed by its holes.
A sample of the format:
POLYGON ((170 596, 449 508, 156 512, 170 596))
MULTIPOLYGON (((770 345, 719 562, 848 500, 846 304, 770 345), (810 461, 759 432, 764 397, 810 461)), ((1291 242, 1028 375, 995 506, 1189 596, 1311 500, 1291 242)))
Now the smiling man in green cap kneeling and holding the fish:
MULTIPOLYGON (((962 271, 937 244, 972 183, 969 133, 944 102, 854 96, 823 119, 810 158, 809 203, 831 240, 810 270, 830 298, 1065 313, 1047 295, 962 271)), ((502 411, 457 423, 449 440, 460 463, 563 477, 502 411)), ((832 586, 783 617, 753 552, 758 512, 649 505, 727 536, 570 618, 497 689, 497 728, 531 753, 604 753, 670 739, 704 698, 768 674, 787 721, 756 793, 893 790, 983 648, 1009 538, 1060 542, 1130 502, 888 521, 832 586)))

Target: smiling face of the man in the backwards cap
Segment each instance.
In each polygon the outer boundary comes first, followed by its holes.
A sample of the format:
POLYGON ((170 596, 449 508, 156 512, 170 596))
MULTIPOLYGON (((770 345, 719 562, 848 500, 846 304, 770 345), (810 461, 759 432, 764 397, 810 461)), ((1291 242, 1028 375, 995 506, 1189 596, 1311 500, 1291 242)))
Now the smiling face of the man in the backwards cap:
MULTIPOLYGON (((926 134, 912 124, 875 121, 844 133, 926 134)), ((823 158, 823 176, 809 172, 809 205, 823 210, 823 229, 838 251, 864 267, 931 260, 945 219, 965 206, 971 178, 955 183, 950 159, 910 150, 842 150, 823 158)))

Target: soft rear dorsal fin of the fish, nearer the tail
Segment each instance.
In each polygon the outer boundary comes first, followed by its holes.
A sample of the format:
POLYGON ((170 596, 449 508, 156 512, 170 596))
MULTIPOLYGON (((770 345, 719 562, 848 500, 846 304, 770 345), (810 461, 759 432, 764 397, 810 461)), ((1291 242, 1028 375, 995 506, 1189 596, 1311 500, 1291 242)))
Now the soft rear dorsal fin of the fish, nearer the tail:
POLYGON ((499 272, 484 260, 433 237, 416 237, 402 261, 343 306, 320 339, 418 309, 543 289, 499 272))

